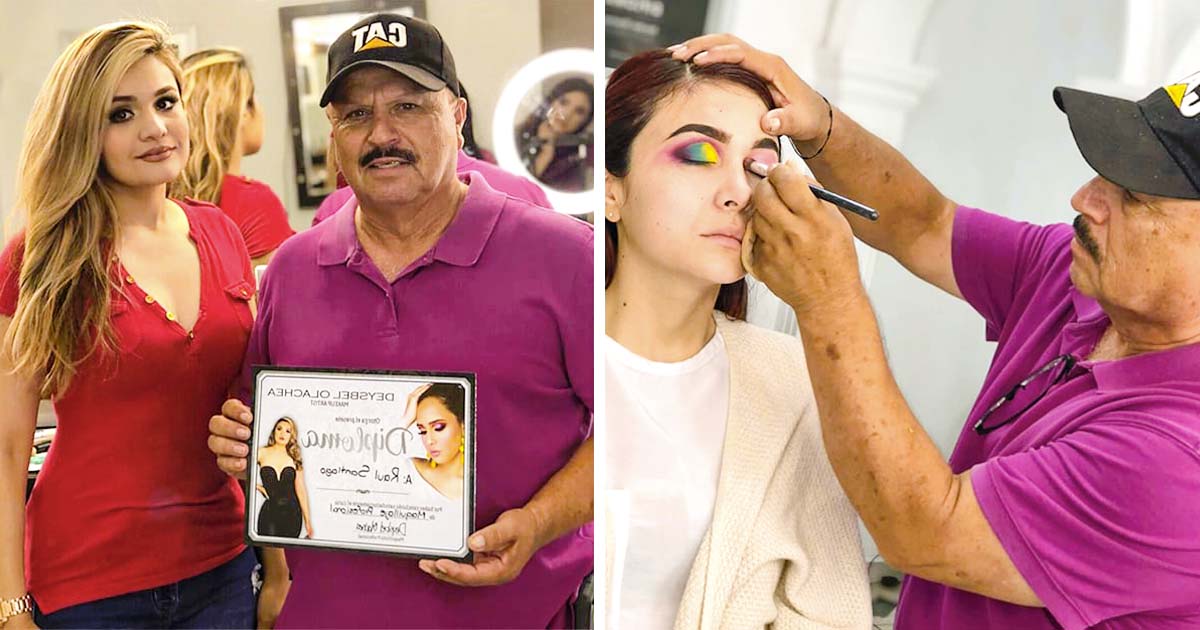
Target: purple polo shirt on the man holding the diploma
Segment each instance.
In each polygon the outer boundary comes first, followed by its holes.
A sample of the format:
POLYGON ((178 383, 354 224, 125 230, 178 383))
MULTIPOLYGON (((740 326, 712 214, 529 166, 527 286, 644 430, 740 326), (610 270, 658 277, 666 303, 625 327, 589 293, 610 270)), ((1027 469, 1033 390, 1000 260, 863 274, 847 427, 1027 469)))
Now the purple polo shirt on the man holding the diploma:
MULTIPOLYGON (((593 230, 492 190, 478 173, 430 252, 388 282, 355 212, 289 239, 263 275, 256 364, 478 374, 476 527, 520 508, 592 432, 593 230)), ((244 390, 242 397, 248 397, 244 390)), ((462 588, 416 560, 288 550, 280 628, 569 628, 592 526, 512 582, 462 588)))

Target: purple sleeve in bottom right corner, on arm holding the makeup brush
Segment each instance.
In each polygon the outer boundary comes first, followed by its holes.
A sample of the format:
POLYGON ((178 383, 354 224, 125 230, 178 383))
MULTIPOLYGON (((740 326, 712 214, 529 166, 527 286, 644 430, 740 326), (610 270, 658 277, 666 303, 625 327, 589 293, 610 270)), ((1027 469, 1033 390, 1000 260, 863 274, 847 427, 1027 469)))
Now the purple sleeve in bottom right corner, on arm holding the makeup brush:
POLYGON ((1194 605, 1200 455, 1156 419, 1109 416, 971 472, 1016 570, 1067 629, 1194 605))

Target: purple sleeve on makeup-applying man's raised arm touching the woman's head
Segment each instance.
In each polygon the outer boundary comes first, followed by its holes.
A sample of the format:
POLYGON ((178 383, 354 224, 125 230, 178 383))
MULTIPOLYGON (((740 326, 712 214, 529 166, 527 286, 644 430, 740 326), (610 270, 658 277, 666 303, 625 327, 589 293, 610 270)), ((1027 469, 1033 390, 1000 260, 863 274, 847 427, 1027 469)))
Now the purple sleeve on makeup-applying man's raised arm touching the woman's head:
POLYGON ((958 208, 950 245, 954 280, 962 298, 986 320, 988 341, 1000 338, 1018 294, 1044 277, 1072 238, 1070 226, 1034 226, 958 208))

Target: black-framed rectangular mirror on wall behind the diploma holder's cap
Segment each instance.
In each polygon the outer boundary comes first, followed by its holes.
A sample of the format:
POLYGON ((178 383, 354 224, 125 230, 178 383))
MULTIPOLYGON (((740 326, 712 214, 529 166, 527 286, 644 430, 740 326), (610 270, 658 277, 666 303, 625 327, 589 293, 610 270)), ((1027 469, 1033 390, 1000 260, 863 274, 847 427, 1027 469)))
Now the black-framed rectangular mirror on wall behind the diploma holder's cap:
POLYGON ((320 107, 330 44, 359 19, 378 12, 425 17, 424 0, 352 0, 280 8, 295 182, 300 205, 334 192, 337 166, 329 150, 329 119, 320 107))

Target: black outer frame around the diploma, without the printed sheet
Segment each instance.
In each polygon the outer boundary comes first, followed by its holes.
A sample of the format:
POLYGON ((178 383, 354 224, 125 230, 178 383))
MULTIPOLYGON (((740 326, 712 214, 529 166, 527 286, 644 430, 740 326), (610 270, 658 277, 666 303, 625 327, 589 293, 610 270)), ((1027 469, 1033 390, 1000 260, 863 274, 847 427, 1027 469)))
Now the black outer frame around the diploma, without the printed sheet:
POLYGON ((294 547, 294 548, 335 550, 335 551, 344 551, 344 552, 352 552, 352 553, 372 553, 372 554, 379 554, 379 556, 390 556, 390 557, 395 557, 395 558, 433 558, 433 559, 437 559, 437 558, 449 558, 449 559, 455 560, 455 562, 468 563, 468 564, 472 563, 472 562, 474 562, 474 552, 472 552, 470 547, 467 546, 467 540, 470 538, 472 534, 475 533, 475 500, 478 498, 476 494, 475 494, 475 474, 476 474, 476 462, 478 462, 478 458, 476 458, 478 457, 476 444, 478 444, 479 440, 476 439, 476 433, 475 432, 478 430, 479 409, 478 409, 478 406, 476 406, 476 400, 478 400, 476 389, 478 389, 478 386, 476 386, 476 380, 475 380, 475 373, 474 372, 425 372, 425 371, 394 371, 394 370, 347 370, 347 368, 341 368, 341 367, 281 367, 281 366, 272 366, 272 365, 256 365, 256 366, 253 366, 252 370, 253 370, 253 383, 254 383, 254 390, 253 390, 254 403, 253 403, 253 409, 252 410, 254 413, 256 419, 258 418, 258 404, 257 403, 258 403, 258 400, 259 400, 258 398, 258 382, 259 382, 259 374, 262 374, 263 372, 270 372, 271 374, 304 374, 304 373, 312 374, 312 373, 317 373, 317 374, 330 374, 330 376, 348 374, 348 376, 406 377, 406 378, 412 378, 412 379, 421 379, 421 378, 426 378, 426 377, 428 377, 428 378, 456 378, 456 379, 463 379, 467 383, 469 383, 469 385, 470 385, 470 391, 467 392, 467 400, 470 403, 470 407, 469 407, 470 408, 470 413, 467 414, 469 418, 463 419, 464 425, 469 422, 469 431, 467 431, 466 434, 470 436, 470 438, 466 439, 466 444, 464 444, 464 446, 466 446, 464 455, 468 456, 468 463, 469 463, 469 467, 466 469, 466 476, 468 479, 464 480, 464 485, 463 485, 463 498, 466 499, 466 506, 464 506, 463 511, 464 511, 464 516, 466 516, 466 521, 467 521, 466 522, 467 530, 464 532, 464 535, 463 535, 463 547, 466 548, 466 556, 438 556, 438 554, 425 554, 425 553, 403 553, 403 552, 384 551, 384 550, 360 550, 360 548, 342 547, 342 546, 334 545, 334 544, 330 544, 330 545, 281 544, 274 536, 272 536, 271 540, 264 540, 264 539, 260 539, 260 538, 252 536, 251 532, 254 529, 254 522, 256 522, 256 516, 257 515, 252 514, 252 510, 251 510, 251 498, 253 497, 253 492, 254 492, 254 490, 252 487, 250 487, 250 481, 252 481, 254 479, 253 478, 253 473, 251 472, 252 466, 253 466, 251 462, 257 461, 257 456, 256 455, 258 452, 258 442, 259 442, 259 440, 254 439, 256 436, 254 436, 254 431, 253 430, 251 431, 250 442, 247 443, 247 446, 250 446, 250 450, 248 450, 248 452, 246 455, 246 480, 247 480, 247 486, 245 488, 246 492, 244 492, 244 494, 245 494, 245 516, 246 516, 246 522, 245 522, 245 528, 242 529, 242 539, 245 540, 246 545, 259 546, 259 547, 294 547))

